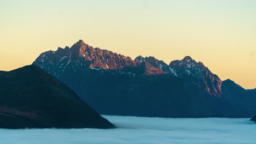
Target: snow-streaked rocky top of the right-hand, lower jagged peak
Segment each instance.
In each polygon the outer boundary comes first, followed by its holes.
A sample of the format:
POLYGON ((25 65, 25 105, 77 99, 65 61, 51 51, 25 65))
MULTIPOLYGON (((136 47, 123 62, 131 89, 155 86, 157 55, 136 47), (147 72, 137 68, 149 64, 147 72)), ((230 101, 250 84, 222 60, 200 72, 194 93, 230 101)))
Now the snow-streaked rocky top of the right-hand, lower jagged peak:
POLYGON ((139 56, 135 58, 135 61, 148 62, 154 67, 165 71, 167 74, 190 80, 196 83, 205 94, 214 95, 216 97, 222 95, 222 80, 220 80, 217 75, 212 74, 202 62, 197 63, 190 56, 184 57, 181 61, 172 61, 169 65, 154 57, 143 58, 139 56))

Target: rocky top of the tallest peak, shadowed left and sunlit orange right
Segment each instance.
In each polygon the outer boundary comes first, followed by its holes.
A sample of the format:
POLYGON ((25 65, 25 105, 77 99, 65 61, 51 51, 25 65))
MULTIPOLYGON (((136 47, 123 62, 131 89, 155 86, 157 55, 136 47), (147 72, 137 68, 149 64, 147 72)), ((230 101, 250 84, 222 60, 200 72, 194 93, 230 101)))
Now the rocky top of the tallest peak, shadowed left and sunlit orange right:
MULTIPOLYGON (((101 69, 124 69, 125 67, 135 67, 138 65, 130 57, 125 57, 108 50, 101 50, 85 44, 79 40, 70 48, 59 47, 57 51, 47 51, 42 53, 34 62, 40 67, 53 67, 64 70, 68 65, 74 65, 76 69, 101 68, 101 69), (70 63, 70 64, 69 64, 70 63)), ((49 69, 50 69, 49 68, 49 69)))

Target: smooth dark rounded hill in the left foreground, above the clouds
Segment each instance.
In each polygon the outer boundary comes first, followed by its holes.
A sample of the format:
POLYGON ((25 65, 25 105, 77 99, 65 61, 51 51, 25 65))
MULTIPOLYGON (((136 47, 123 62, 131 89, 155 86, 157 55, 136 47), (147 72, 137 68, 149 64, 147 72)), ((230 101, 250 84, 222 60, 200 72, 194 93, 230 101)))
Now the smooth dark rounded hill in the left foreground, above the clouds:
POLYGON ((0 71, 0 128, 113 128, 36 65, 0 71))

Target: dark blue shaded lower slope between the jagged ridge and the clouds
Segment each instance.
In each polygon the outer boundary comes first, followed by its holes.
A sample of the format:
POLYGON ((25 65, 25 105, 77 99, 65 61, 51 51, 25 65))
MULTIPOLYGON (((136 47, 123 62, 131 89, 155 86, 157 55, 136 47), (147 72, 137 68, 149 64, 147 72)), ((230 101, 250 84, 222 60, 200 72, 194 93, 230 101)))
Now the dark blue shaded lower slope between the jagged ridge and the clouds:
MULTIPOLYGON (((208 99, 199 89, 170 75, 138 75, 114 70, 88 69, 72 75, 69 85, 84 101, 106 115, 148 117, 224 117, 217 97, 208 99), (216 101, 216 103, 212 103, 216 101), (218 110, 213 105, 219 104, 218 110)), ((227 112, 227 111, 226 111, 227 112)), ((231 112, 229 112, 231 116, 231 112)))

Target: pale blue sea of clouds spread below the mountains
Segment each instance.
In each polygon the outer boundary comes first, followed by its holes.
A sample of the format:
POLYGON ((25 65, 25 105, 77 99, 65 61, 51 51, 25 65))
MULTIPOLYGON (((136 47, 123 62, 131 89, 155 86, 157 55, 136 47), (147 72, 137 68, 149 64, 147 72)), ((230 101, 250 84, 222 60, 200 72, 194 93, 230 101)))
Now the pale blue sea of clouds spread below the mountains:
POLYGON ((117 129, 0 129, 0 143, 256 143, 249 118, 103 116, 117 129))

